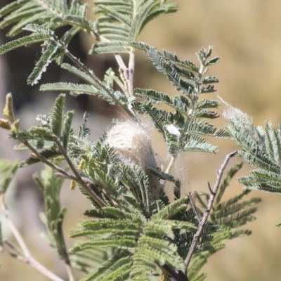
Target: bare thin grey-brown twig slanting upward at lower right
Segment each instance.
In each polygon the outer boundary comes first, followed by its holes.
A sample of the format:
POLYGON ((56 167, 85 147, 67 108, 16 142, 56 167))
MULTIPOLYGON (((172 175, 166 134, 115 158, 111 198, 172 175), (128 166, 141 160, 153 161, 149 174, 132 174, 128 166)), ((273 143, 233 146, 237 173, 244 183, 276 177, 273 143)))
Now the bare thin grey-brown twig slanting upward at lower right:
POLYGON ((221 165, 221 168, 217 171, 217 176, 216 176, 216 183, 214 185, 214 188, 211 189, 211 196, 209 198, 209 202, 206 208, 206 211, 204 212, 203 216, 202 216, 202 220, 200 221, 200 225, 197 229, 197 232, 195 233, 195 235, 193 236, 193 240, 190 246, 190 249, 188 251, 188 255, 185 258, 185 266, 188 268, 189 263, 191 261, 192 258, 192 254, 195 251, 195 248, 198 244, 200 235, 202 234, 203 228, 205 226, 205 224, 207 223, 210 211, 211 211, 211 207, 213 206, 216 194, 218 192, 218 188, 219 185, 221 183, 221 177, 223 176, 223 171, 226 169, 226 166, 230 160, 231 157, 235 156, 237 154, 237 151, 231 152, 228 155, 226 155, 226 159, 224 160, 223 164, 221 165))

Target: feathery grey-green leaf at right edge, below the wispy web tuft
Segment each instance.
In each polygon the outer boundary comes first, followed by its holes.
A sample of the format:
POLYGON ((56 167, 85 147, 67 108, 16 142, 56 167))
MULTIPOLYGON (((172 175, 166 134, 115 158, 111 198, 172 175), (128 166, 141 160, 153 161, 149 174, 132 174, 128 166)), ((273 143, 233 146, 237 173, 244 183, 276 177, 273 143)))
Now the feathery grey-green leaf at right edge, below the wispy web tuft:
POLYGON ((230 138, 240 146, 238 155, 258 169, 252 176, 238 179, 249 190, 281 193, 281 129, 275 130, 271 122, 261 126, 244 124, 228 124, 226 126, 230 138))

